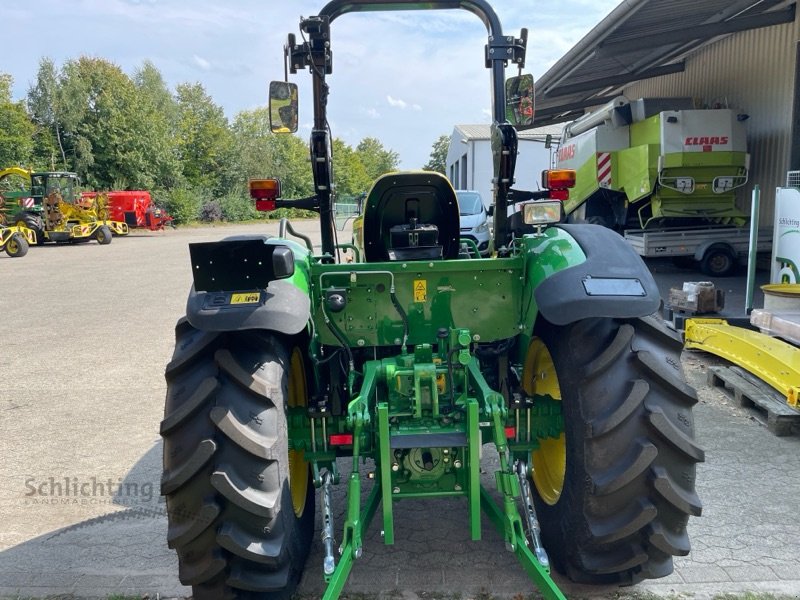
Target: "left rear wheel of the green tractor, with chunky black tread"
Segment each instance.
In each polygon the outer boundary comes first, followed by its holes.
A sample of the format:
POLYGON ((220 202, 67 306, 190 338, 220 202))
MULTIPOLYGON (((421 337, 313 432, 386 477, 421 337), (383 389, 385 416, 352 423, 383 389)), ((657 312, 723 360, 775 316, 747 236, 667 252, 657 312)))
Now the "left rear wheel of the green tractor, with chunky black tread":
POLYGON ((314 486, 285 414, 293 389, 306 396, 302 353, 266 332, 208 333, 185 319, 175 335, 161 493, 180 580, 196 600, 288 600, 314 530, 314 486))

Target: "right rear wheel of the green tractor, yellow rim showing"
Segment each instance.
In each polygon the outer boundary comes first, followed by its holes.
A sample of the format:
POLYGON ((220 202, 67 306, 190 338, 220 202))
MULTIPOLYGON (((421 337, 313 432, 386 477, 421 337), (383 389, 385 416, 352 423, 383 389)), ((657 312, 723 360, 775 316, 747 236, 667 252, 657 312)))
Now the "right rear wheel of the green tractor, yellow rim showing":
POLYGON ((689 552, 704 454, 680 349, 654 318, 537 327, 525 391, 560 400, 565 428, 532 453, 534 502, 554 565, 574 581, 663 577, 689 552))

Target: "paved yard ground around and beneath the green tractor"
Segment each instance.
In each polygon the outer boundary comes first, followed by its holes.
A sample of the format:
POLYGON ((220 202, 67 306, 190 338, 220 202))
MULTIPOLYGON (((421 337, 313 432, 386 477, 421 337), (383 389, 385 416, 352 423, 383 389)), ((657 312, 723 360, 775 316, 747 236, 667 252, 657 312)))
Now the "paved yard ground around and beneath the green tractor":
MULTIPOLYGON (((254 228, 142 233, 105 247, 0 256, 0 596, 189 595, 166 548, 158 496, 162 374, 190 284, 186 244, 247 231, 254 228)), ((666 263, 651 266, 666 289, 705 279, 666 263)), ((730 308, 743 298, 741 279, 724 286, 730 308)), ((632 591, 798 597, 800 435, 774 437, 754 414, 706 387, 714 362, 684 358, 700 389, 696 426, 707 456, 698 475, 704 516, 690 525, 693 552, 676 561, 672 576, 632 591)), ((461 503, 442 502, 436 511, 401 503, 395 522, 391 549, 370 530, 349 593, 377 598, 396 590, 406 600, 422 591, 449 598, 531 593, 493 530, 484 527, 483 542, 468 541, 461 503)), ((301 585, 305 598, 323 589, 317 540, 301 585)), ((619 597, 615 589, 564 589, 570 598, 619 597)))

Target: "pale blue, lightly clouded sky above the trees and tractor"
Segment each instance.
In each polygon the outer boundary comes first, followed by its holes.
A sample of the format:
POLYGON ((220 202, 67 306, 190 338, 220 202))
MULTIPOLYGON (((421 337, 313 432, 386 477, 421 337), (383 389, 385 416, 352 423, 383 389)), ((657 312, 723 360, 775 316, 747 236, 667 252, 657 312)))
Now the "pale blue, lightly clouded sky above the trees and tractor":
MULTIPOLYGON (((15 99, 34 83, 39 61, 57 66, 82 55, 105 58, 133 75, 151 61, 170 89, 199 82, 229 119, 265 106, 270 80, 284 78, 283 45, 298 40, 300 16, 326 0, 2 0, 0 72, 15 99)), ((539 77, 619 0, 494 0, 503 33, 527 27, 526 72, 539 77)), ((376 137, 400 166, 428 161, 456 124, 490 123, 487 33, 463 10, 346 14, 331 25, 333 74, 328 120, 334 137, 355 146, 376 137)), ((508 76, 516 75, 509 69, 508 76)), ((300 131, 313 119, 311 75, 300 86, 300 131)))

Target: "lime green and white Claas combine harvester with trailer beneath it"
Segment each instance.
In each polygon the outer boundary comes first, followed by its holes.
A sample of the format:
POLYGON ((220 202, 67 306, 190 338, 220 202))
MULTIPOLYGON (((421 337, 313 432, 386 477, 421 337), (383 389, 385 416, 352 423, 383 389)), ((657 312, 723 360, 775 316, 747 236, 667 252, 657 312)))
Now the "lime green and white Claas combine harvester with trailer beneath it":
MULTIPOLYGON (((559 168, 577 172, 567 214, 623 233, 640 256, 731 274, 749 243, 747 215, 736 207, 750 167, 746 118, 695 109, 688 98, 622 96, 584 115, 558 149, 559 168)), ((769 237, 760 238, 759 251, 768 251, 769 237)))

